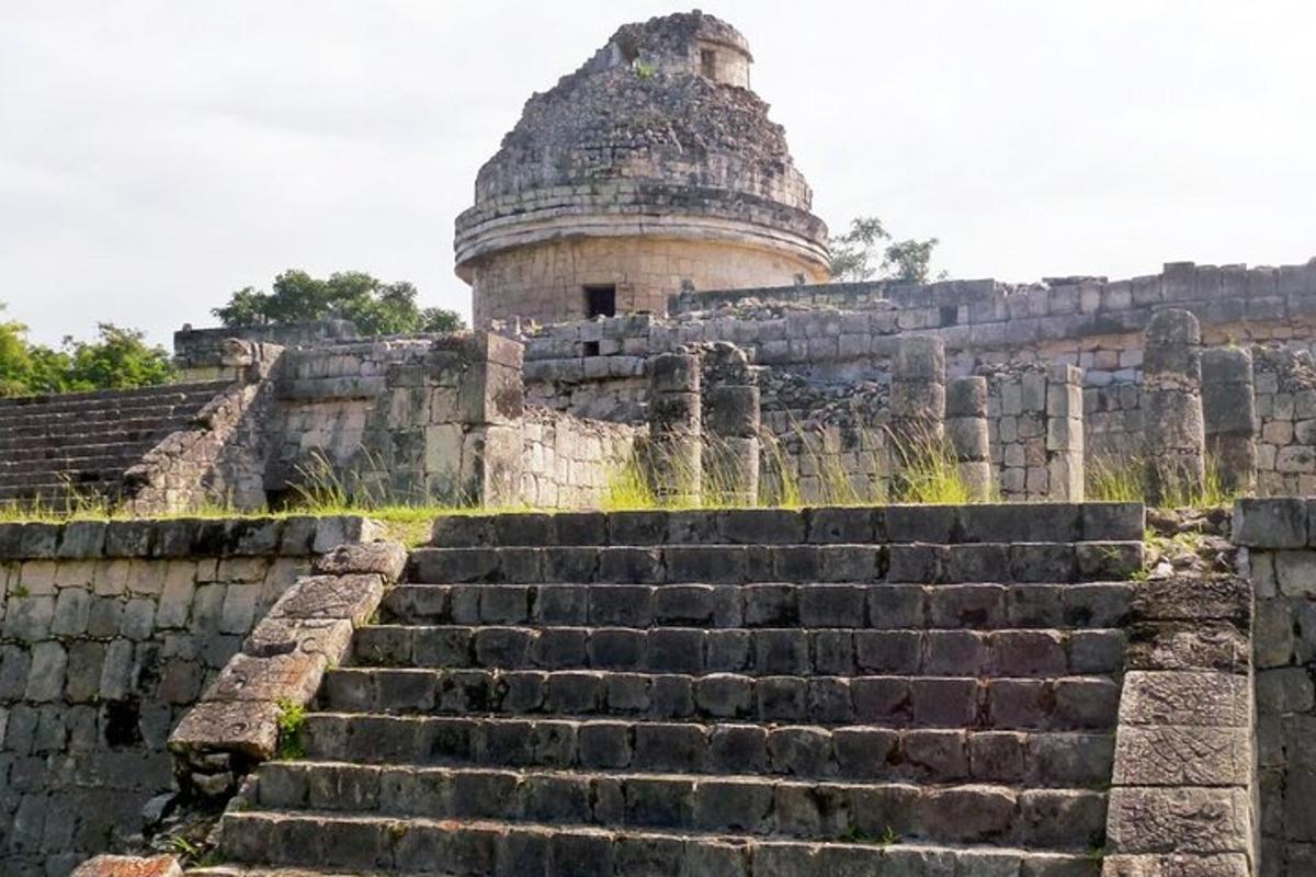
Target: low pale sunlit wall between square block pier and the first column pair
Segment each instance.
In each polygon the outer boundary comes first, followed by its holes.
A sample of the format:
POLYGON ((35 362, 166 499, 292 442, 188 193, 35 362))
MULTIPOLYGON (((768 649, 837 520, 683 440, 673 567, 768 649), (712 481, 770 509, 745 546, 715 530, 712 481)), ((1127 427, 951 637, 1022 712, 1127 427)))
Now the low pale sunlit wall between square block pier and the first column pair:
POLYGON ((521 435, 521 501, 534 509, 588 509, 603 505, 642 431, 528 408, 521 435))

